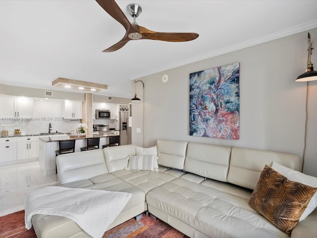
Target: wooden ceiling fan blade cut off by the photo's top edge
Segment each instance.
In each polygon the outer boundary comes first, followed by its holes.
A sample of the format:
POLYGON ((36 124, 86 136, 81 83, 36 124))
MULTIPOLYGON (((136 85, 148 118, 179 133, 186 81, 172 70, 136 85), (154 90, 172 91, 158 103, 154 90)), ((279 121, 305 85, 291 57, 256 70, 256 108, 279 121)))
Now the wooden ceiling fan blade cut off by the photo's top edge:
POLYGON ((131 23, 114 0, 96 0, 104 10, 129 31, 131 23))

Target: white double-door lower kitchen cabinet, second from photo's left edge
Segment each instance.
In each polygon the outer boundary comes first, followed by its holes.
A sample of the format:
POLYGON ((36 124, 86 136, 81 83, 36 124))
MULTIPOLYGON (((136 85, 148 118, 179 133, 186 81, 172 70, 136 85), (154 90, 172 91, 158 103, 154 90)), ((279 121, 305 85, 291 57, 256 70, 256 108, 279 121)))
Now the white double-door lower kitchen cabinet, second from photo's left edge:
POLYGON ((17 137, 17 160, 26 160, 39 157, 39 137, 17 137))

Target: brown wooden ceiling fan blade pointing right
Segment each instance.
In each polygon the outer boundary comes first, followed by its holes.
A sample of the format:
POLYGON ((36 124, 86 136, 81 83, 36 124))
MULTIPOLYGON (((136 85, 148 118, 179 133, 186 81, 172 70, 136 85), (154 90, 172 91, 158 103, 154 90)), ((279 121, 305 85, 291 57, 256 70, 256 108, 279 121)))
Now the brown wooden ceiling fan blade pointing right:
POLYGON ((169 41, 169 42, 184 42, 195 40, 199 35, 197 33, 182 33, 182 32, 155 32, 143 26, 140 26, 142 39, 169 41))

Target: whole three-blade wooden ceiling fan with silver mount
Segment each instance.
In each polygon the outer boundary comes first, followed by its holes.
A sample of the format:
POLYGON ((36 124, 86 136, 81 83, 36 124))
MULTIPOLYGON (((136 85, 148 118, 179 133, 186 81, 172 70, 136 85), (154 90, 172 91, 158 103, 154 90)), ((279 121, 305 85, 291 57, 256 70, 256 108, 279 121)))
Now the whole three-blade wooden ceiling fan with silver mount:
POLYGON ((169 42, 183 42, 192 41, 196 39, 199 35, 197 33, 176 33, 176 32, 155 32, 151 31, 143 26, 139 26, 136 23, 136 18, 142 11, 139 4, 129 4, 127 10, 133 17, 134 21, 132 23, 126 18, 120 7, 114 0, 96 0, 105 11, 117 20, 126 30, 123 38, 113 46, 107 48, 103 52, 113 52, 122 48, 128 41, 131 40, 159 40, 159 41, 169 41, 169 42))

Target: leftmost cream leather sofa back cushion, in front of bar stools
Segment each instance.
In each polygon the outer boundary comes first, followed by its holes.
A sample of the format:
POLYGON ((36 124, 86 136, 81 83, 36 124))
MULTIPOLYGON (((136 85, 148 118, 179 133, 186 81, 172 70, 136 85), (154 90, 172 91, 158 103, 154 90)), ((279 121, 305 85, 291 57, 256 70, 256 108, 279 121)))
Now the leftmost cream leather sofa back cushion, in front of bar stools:
POLYGON ((100 149, 58 155, 56 166, 60 184, 108 174, 100 149))

